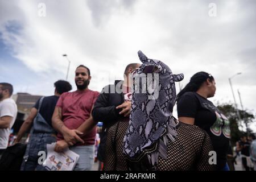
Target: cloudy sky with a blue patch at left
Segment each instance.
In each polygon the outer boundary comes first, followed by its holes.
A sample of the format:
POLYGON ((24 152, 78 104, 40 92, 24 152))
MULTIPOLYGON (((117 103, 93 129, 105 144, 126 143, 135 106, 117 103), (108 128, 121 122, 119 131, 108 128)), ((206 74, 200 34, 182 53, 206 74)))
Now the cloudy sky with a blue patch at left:
MULTIPOLYGON (((228 78, 243 107, 256 111, 256 1, 0 0, 0 82, 16 92, 53 94, 65 79, 75 89, 75 68, 91 69, 90 89, 122 79, 137 51, 184 73, 211 73, 214 104, 233 103, 228 78)), ((179 91, 179 85, 177 85, 179 91)), ((255 123, 251 125, 256 129, 255 123)))

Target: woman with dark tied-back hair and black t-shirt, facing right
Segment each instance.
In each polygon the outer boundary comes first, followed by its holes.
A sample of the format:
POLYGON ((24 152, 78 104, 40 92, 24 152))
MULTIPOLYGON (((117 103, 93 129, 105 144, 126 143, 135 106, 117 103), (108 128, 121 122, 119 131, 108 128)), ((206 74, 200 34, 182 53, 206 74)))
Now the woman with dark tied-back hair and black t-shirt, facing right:
POLYGON ((217 155, 217 170, 229 170, 226 155, 229 148, 230 128, 228 118, 207 98, 216 92, 215 80, 206 72, 193 75, 189 83, 177 94, 179 121, 197 125, 207 131, 217 155))

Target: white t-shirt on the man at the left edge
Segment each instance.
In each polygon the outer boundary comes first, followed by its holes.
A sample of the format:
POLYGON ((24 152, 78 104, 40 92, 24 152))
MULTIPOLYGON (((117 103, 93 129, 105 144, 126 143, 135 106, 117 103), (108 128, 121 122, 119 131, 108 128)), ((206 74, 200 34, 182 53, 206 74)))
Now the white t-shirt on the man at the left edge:
POLYGON ((8 146, 10 129, 13 127, 17 117, 17 105, 11 98, 6 98, 0 102, 0 118, 4 116, 13 117, 8 129, 0 129, 0 149, 5 149, 8 146))

